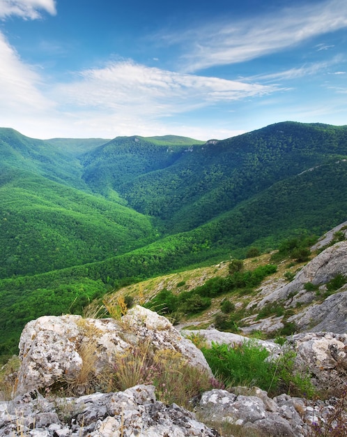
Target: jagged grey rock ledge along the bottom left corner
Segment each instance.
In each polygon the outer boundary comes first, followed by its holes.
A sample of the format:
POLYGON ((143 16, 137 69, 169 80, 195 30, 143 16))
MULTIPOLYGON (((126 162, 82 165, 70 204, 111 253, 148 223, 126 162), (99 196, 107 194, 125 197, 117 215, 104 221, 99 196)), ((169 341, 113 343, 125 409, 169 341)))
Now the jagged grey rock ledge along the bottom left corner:
POLYGON ((12 402, 0 402, 0 411, 6 411, 6 416, 0 416, 0 437, 218 436, 193 413, 156 401, 152 385, 51 401, 31 392, 12 402))

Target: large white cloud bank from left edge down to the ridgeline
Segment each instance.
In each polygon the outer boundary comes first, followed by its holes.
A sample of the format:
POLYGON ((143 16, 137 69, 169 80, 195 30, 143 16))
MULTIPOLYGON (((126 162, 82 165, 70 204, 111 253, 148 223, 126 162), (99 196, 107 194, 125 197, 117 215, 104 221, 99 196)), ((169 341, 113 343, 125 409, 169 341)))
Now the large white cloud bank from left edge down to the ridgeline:
POLYGON ((174 116, 276 91, 271 85, 162 71, 132 61, 82 71, 72 82, 55 84, 24 63, 1 33, 0 59, 1 126, 34 138, 135 133, 226 138, 240 131, 204 121, 184 126, 174 116))

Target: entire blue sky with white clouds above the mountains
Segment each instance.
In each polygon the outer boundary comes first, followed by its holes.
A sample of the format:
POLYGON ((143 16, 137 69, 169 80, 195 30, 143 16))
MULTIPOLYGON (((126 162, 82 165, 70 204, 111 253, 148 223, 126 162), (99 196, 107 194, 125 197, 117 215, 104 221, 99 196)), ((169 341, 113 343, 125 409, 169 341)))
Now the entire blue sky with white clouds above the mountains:
POLYGON ((346 0, 0 0, 0 60, 33 138, 347 124, 346 0))

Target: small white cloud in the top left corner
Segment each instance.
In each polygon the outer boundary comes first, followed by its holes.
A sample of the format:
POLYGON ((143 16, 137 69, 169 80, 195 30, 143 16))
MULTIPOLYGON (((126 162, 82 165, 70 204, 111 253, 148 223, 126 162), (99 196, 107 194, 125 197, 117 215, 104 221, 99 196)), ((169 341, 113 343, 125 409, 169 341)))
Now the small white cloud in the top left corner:
POLYGON ((0 17, 18 15, 24 19, 35 20, 40 17, 39 10, 55 15, 54 0, 0 0, 0 17))

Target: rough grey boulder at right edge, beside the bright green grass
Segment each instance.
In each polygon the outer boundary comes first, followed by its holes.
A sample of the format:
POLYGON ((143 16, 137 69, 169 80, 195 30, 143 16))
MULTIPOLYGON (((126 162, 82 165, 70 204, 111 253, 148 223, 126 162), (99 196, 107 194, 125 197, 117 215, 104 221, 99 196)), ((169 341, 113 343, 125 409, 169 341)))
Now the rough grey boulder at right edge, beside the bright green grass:
POLYGON ((296 366, 309 371, 319 390, 337 393, 347 387, 347 334, 295 334, 288 346, 297 353, 296 366))

